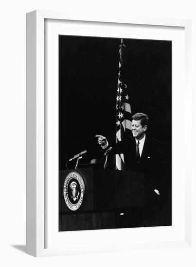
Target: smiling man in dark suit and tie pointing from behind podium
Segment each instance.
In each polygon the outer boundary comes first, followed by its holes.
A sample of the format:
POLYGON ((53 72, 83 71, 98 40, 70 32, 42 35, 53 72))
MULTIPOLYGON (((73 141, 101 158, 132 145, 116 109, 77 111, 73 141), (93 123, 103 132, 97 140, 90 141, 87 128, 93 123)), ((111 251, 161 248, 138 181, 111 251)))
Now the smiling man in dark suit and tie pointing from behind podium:
MULTIPOLYGON (((146 205, 140 211, 143 213, 143 217, 140 217, 141 225, 136 223, 136 226, 160 225, 160 187, 164 176, 164 168, 161 165, 164 162, 164 153, 160 143, 147 136, 148 121, 146 114, 135 114, 132 117, 133 136, 125 137, 124 140, 112 145, 114 153, 124 153, 125 170, 144 173, 146 205)), ((103 149, 109 146, 105 136, 96 137, 103 149)))

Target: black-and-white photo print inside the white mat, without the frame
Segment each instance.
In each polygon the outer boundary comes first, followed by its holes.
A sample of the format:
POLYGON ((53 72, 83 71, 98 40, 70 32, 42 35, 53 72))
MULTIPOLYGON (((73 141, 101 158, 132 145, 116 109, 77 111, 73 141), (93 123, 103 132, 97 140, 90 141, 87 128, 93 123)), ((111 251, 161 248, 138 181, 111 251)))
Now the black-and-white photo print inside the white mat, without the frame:
POLYGON ((172 42, 59 35, 59 231, 172 225, 172 42))

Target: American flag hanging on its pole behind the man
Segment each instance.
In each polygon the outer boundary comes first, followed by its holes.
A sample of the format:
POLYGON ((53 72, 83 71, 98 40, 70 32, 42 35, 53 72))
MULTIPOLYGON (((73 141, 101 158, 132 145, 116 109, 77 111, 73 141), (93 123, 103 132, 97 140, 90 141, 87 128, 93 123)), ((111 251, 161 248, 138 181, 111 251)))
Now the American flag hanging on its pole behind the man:
MULTIPOLYGON (((125 82, 125 44, 121 39, 119 46, 119 73, 118 73, 118 89, 116 96, 116 143, 124 139, 126 135, 131 134, 131 105, 127 84, 125 82)), ((116 154, 116 169, 125 169, 124 154, 116 154)))

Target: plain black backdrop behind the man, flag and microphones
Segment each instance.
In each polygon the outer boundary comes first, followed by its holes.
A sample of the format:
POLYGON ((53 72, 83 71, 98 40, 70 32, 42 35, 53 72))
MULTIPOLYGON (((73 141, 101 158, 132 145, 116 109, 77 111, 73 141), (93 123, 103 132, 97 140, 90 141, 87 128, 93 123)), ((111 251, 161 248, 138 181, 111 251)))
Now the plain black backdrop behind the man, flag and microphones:
MULTIPOLYGON (((132 114, 146 113, 147 134, 171 157, 171 41, 124 39, 132 114)), ((59 170, 75 154, 101 160, 96 134, 115 141, 120 38, 59 35, 59 170)), ((75 161, 68 166, 73 168, 75 161)))

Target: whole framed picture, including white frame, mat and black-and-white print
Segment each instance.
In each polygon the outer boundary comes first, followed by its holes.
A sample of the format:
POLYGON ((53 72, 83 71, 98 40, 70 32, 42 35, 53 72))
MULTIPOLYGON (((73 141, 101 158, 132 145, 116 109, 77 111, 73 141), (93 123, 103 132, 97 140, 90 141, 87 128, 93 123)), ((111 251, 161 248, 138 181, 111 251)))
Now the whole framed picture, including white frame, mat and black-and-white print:
POLYGON ((27 14, 27 253, 190 246, 190 40, 189 20, 27 14))

